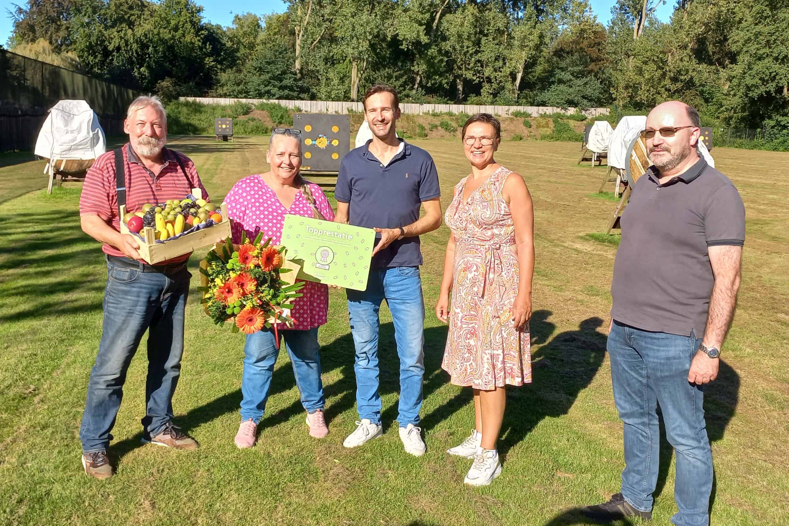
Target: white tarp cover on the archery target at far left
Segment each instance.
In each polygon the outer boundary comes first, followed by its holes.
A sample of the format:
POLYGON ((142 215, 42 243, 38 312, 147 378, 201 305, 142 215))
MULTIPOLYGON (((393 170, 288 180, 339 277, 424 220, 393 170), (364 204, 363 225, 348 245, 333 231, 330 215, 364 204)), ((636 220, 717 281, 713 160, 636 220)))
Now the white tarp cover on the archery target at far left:
POLYGON ((36 141, 36 155, 55 159, 91 160, 107 151, 107 138, 84 100, 61 100, 47 115, 36 141))

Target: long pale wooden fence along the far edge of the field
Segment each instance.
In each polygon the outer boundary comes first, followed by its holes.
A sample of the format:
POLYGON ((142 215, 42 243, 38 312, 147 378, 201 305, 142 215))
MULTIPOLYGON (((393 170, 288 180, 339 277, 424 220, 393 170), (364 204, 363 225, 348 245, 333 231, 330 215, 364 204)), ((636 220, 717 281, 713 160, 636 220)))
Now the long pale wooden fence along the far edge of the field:
MULTIPOLYGON (((305 113, 339 113, 346 114, 348 111, 361 113, 363 107, 361 102, 340 102, 326 100, 270 100, 270 99, 223 99, 219 97, 180 97, 179 100, 192 100, 204 104, 232 104, 237 102, 256 104, 261 102, 277 103, 284 107, 298 107, 305 113)), ((528 111, 529 114, 537 117, 544 113, 563 113, 566 115, 574 114, 574 107, 553 107, 553 106, 495 106, 488 104, 413 104, 400 103, 400 111, 409 115, 425 115, 430 113, 442 113, 451 111, 452 113, 465 112, 469 115, 475 113, 490 113, 492 115, 508 116, 514 111, 528 111)), ((608 115, 610 110, 607 107, 593 107, 582 110, 581 113, 587 117, 597 115, 608 115)))

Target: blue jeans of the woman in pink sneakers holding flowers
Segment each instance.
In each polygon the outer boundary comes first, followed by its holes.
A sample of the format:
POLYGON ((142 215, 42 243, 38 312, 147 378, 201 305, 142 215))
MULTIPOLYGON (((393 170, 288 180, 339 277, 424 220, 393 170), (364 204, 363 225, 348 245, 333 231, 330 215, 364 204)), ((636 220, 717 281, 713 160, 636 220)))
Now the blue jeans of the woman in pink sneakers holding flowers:
MULTIPOLYGON (((282 340, 294 367, 294 376, 301 405, 308 413, 323 409, 323 381, 320 379, 320 344, 318 328, 303 330, 282 330, 282 340)), ((241 378, 241 421, 252 419, 260 423, 266 409, 271 376, 279 349, 272 329, 263 329, 246 337, 244 345, 244 375, 241 378)))

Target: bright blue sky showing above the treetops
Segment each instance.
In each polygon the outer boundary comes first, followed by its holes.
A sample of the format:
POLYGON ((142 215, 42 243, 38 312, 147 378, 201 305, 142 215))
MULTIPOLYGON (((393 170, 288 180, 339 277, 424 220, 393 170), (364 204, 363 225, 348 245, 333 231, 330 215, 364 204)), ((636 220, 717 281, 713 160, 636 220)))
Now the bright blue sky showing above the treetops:
MULTIPOLYGON (((286 3, 280 0, 196 0, 203 6, 203 16, 214 24, 227 26, 232 24, 233 17, 237 13, 252 12, 258 15, 268 13, 282 13, 286 9, 286 3)), ((13 29, 8 11, 13 9, 13 5, 18 3, 24 5, 25 0, 0 0, 0 43, 5 44, 13 29)), ((597 20, 607 24, 611 18, 611 6, 615 0, 589 0, 593 12, 597 15, 597 20)), ((656 10, 657 17, 664 22, 671 17, 671 11, 675 5, 675 0, 667 0, 656 10)))

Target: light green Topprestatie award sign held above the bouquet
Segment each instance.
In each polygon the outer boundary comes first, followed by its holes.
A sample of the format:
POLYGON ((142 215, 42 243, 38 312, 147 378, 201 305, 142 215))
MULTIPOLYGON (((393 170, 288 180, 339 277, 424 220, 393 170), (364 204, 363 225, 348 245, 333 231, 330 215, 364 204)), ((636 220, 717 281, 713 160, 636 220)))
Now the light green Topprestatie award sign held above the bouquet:
POLYGON ((285 216, 282 245, 287 259, 300 267, 299 280, 364 291, 376 231, 350 224, 285 216))

